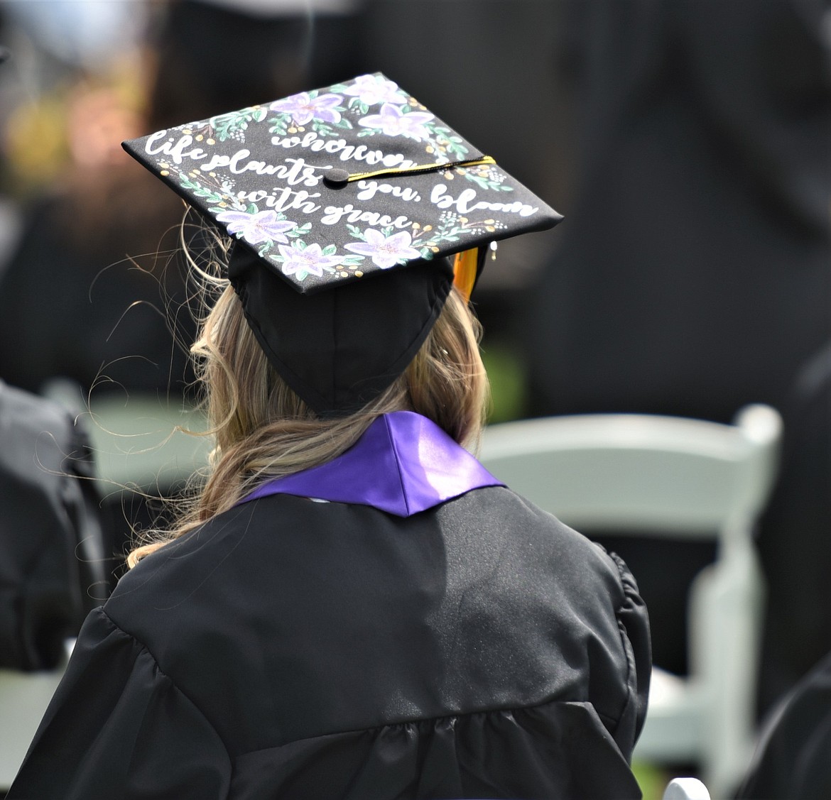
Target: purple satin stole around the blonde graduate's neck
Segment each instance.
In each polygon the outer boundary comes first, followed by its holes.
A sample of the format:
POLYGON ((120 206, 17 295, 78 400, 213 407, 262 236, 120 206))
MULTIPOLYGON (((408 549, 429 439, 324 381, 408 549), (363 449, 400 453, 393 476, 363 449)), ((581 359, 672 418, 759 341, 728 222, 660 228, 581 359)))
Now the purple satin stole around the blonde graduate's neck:
POLYGON ((263 483, 241 502, 293 494, 409 517, 484 486, 504 483, 434 422, 396 411, 375 420, 337 459, 263 483))

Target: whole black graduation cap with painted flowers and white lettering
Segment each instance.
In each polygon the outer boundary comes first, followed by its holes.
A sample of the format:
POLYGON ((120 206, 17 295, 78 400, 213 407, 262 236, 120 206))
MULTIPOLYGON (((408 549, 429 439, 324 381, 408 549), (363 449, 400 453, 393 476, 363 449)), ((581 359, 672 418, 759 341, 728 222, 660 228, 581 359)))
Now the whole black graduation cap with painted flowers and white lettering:
POLYGON ((447 257, 479 248, 480 268, 488 243, 561 219, 380 73, 124 148, 237 238, 229 279, 248 323, 322 415, 405 369, 450 292, 447 257))

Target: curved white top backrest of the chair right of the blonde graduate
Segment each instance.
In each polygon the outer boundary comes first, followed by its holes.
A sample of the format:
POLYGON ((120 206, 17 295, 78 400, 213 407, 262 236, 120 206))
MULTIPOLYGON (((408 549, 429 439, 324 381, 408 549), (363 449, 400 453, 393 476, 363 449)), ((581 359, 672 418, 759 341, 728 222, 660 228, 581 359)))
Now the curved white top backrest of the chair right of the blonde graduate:
POLYGON ((480 460, 575 528, 730 537, 774 479, 781 432, 770 406, 734 425, 632 414, 545 417, 485 429, 480 460))

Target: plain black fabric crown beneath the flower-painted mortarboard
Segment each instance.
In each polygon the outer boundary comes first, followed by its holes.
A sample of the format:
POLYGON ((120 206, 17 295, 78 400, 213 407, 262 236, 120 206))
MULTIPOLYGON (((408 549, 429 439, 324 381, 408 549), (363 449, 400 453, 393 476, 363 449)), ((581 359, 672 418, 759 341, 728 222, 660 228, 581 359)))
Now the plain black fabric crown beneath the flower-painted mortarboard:
POLYGON ((447 258, 302 295, 237 245, 229 278, 274 368, 325 416, 380 395, 416 356, 453 282, 447 258))

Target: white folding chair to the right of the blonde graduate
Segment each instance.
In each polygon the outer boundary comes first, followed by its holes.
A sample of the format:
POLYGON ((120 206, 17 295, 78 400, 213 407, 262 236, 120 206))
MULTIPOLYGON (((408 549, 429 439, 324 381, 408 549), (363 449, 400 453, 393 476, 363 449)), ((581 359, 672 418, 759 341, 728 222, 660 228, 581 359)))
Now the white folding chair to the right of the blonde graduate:
POLYGON ((715 562, 688 600, 689 675, 653 670, 634 756, 700 764, 715 797, 735 788, 753 748, 764 593, 753 528, 781 425, 765 405, 740 410, 734 425, 574 415, 492 425, 481 448, 494 475, 578 530, 715 538, 715 562))

